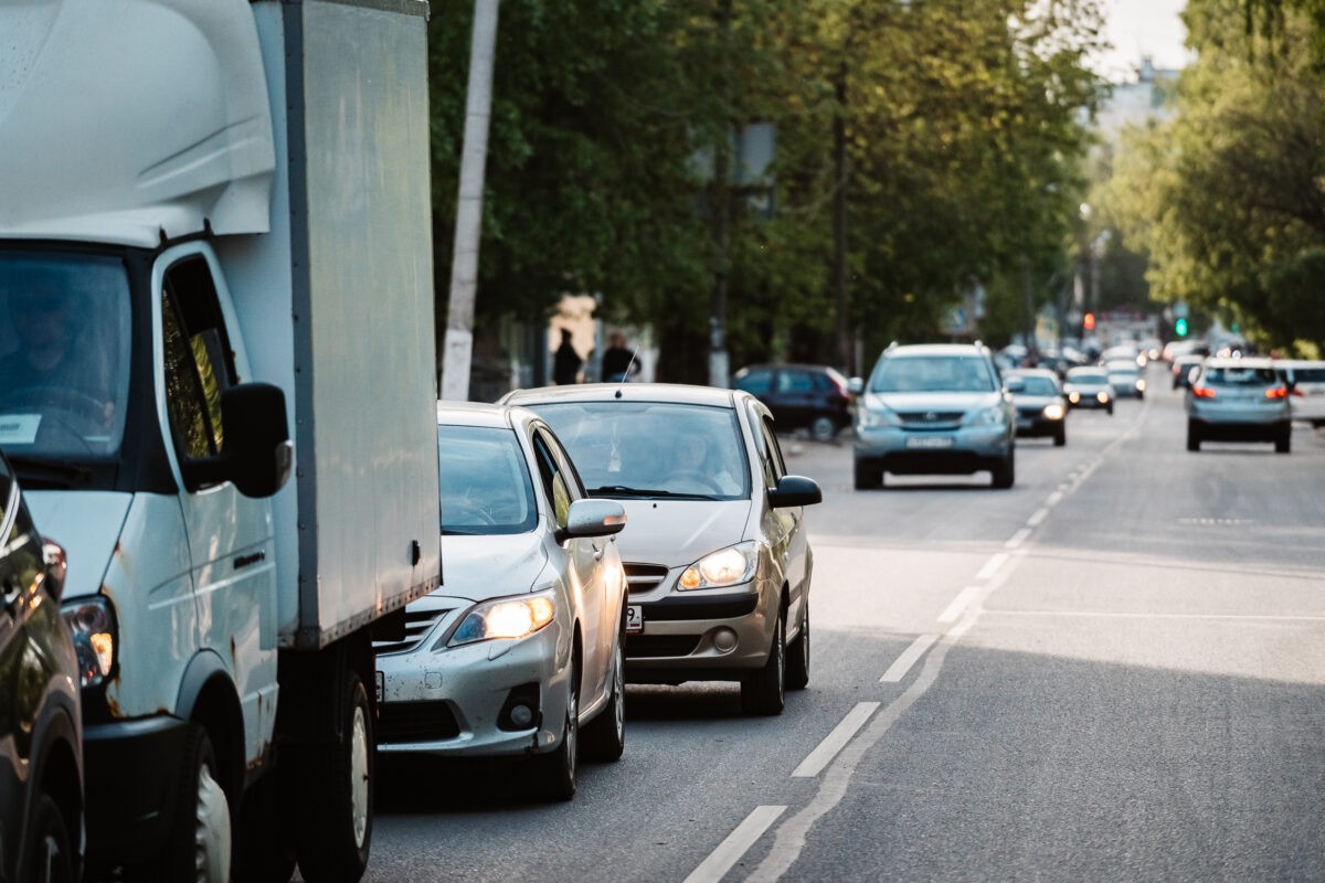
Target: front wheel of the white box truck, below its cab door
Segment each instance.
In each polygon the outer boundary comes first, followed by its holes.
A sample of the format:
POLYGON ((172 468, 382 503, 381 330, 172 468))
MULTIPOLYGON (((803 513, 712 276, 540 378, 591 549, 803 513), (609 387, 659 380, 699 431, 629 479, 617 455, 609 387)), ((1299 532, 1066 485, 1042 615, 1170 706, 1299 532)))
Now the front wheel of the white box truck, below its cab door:
POLYGON ((132 880, 228 883, 231 879, 231 809, 217 784, 216 752, 207 729, 188 723, 179 794, 166 845, 155 864, 135 868, 132 880))

